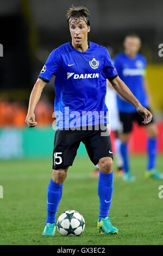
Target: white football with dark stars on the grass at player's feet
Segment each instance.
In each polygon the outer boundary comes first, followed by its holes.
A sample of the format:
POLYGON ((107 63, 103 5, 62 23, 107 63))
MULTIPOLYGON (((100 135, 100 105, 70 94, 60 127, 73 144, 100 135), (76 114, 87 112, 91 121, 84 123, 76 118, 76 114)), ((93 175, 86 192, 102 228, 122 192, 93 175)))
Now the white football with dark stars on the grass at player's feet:
POLYGON ((62 236, 79 236, 85 228, 85 220, 78 211, 63 212, 57 221, 57 228, 62 236))

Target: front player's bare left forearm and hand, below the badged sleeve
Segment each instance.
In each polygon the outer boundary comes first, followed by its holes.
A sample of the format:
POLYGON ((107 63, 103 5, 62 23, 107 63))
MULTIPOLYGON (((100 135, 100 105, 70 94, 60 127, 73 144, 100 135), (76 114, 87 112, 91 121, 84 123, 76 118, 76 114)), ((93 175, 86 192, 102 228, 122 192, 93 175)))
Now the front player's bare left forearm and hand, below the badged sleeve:
POLYGON ((34 110, 37 105, 37 102, 40 100, 41 93, 45 85, 46 85, 46 82, 38 78, 30 94, 28 113, 25 120, 28 127, 34 127, 37 125, 37 122, 35 121, 34 110))

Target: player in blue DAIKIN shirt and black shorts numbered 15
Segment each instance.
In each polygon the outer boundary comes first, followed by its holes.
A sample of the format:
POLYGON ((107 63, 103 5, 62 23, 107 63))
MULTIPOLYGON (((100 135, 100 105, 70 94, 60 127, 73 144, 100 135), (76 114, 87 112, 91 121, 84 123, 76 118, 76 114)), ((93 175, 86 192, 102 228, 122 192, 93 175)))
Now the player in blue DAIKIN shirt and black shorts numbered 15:
POLYGON ((89 10, 85 7, 72 6, 67 11, 71 42, 52 51, 30 95, 26 123, 29 127, 34 127, 37 125, 34 111, 42 90, 52 76, 56 76, 54 107, 58 130, 54 138, 53 171, 47 190, 47 220, 43 235, 55 235, 55 215, 62 197, 62 187, 80 142, 85 144, 91 161, 95 165, 98 163, 100 168, 98 231, 105 234, 118 232, 108 216, 113 190, 113 154, 106 128, 108 123, 108 109, 105 105, 106 79, 109 79, 117 92, 137 109, 143 116, 145 124, 152 119, 151 112, 140 104, 118 77, 106 48, 87 41, 87 34, 90 32, 89 16, 89 10), (73 122, 74 116, 70 117, 73 111, 79 114, 75 122, 73 122), (83 112, 95 111, 98 112, 97 118, 94 116, 83 124, 83 112), (105 136, 101 135, 101 124, 106 131, 105 136), (95 127, 98 127, 98 130, 95 127))

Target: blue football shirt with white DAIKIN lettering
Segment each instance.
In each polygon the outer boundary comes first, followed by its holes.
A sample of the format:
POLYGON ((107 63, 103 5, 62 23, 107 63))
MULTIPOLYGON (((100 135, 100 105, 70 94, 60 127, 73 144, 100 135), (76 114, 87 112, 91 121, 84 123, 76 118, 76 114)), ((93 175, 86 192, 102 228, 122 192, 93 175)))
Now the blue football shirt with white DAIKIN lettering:
POLYGON ((71 42, 61 45, 51 52, 39 78, 49 82, 53 75, 57 129, 108 123, 106 78, 115 78, 117 71, 105 47, 89 42, 79 52, 71 42))

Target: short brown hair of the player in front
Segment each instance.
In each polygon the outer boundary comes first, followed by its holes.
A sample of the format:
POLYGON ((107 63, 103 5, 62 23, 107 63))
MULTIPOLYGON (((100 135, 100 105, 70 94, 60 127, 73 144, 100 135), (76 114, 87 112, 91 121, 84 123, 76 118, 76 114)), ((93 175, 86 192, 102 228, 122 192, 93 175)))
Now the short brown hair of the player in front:
POLYGON ((72 19, 77 20, 79 18, 82 18, 86 22, 87 26, 90 26, 90 12, 83 5, 78 7, 74 7, 74 5, 71 5, 70 9, 67 10, 66 17, 68 25, 72 19))

